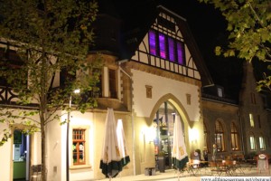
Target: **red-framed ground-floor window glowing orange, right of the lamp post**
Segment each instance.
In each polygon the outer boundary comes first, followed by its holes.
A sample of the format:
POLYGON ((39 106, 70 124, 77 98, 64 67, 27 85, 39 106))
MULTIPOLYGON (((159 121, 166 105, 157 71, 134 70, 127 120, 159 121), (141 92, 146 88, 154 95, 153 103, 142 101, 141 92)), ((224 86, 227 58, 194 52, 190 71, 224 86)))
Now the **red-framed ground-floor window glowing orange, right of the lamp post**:
POLYGON ((73 165, 85 165, 86 164, 85 130, 86 129, 73 129, 72 130, 73 165))

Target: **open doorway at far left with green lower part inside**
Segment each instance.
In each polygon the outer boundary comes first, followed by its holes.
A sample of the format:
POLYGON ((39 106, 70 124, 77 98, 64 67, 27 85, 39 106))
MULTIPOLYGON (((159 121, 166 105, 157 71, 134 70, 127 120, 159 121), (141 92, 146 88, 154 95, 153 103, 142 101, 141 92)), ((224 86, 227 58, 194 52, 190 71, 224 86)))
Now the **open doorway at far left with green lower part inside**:
POLYGON ((21 130, 14 130, 14 180, 29 180, 29 136, 21 130))

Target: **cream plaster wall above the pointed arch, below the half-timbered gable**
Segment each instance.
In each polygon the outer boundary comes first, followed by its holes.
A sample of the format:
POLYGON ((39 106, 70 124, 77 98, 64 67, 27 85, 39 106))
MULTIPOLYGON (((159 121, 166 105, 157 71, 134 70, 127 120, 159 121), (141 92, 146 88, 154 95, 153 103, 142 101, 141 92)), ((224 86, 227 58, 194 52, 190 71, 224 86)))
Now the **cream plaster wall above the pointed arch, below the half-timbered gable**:
POLYGON ((144 71, 132 70, 133 75, 133 108, 137 117, 149 117, 157 100, 172 93, 181 101, 189 119, 200 119, 199 87, 182 81, 175 81, 144 71), (153 87, 152 99, 146 98, 145 85, 153 87), (191 94, 191 105, 186 102, 186 94, 191 94))

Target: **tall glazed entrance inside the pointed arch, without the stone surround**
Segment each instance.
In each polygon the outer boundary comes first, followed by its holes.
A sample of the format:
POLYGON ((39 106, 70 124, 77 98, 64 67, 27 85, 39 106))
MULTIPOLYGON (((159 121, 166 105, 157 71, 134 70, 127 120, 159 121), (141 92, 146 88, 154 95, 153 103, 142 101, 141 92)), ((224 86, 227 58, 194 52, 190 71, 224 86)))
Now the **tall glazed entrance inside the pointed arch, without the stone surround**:
MULTIPOLYGON (((155 113, 154 117, 154 154, 155 167, 158 169, 158 156, 164 155, 165 169, 172 168, 172 143, 173 143, 173 127, 175 116, 180 113, 170 101, 164 101, 155 113)), ((182 122, 182 132, 184 133, 184 124, 182 122)))

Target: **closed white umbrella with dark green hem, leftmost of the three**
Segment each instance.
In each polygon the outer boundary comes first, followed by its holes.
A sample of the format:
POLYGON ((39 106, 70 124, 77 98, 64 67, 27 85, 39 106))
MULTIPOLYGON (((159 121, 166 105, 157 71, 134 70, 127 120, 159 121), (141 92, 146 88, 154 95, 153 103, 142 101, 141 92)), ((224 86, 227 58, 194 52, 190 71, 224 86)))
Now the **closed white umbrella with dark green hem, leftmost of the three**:
POLYGON ((106 131, 104 144, 102 148, 102 156, 99 164, 99 168, 102 169, 102 173, 109 177, 117 176, 122 170, 120 150, 117 142, 117 128, 113 109, 107 109, 106 119, 106 131))

